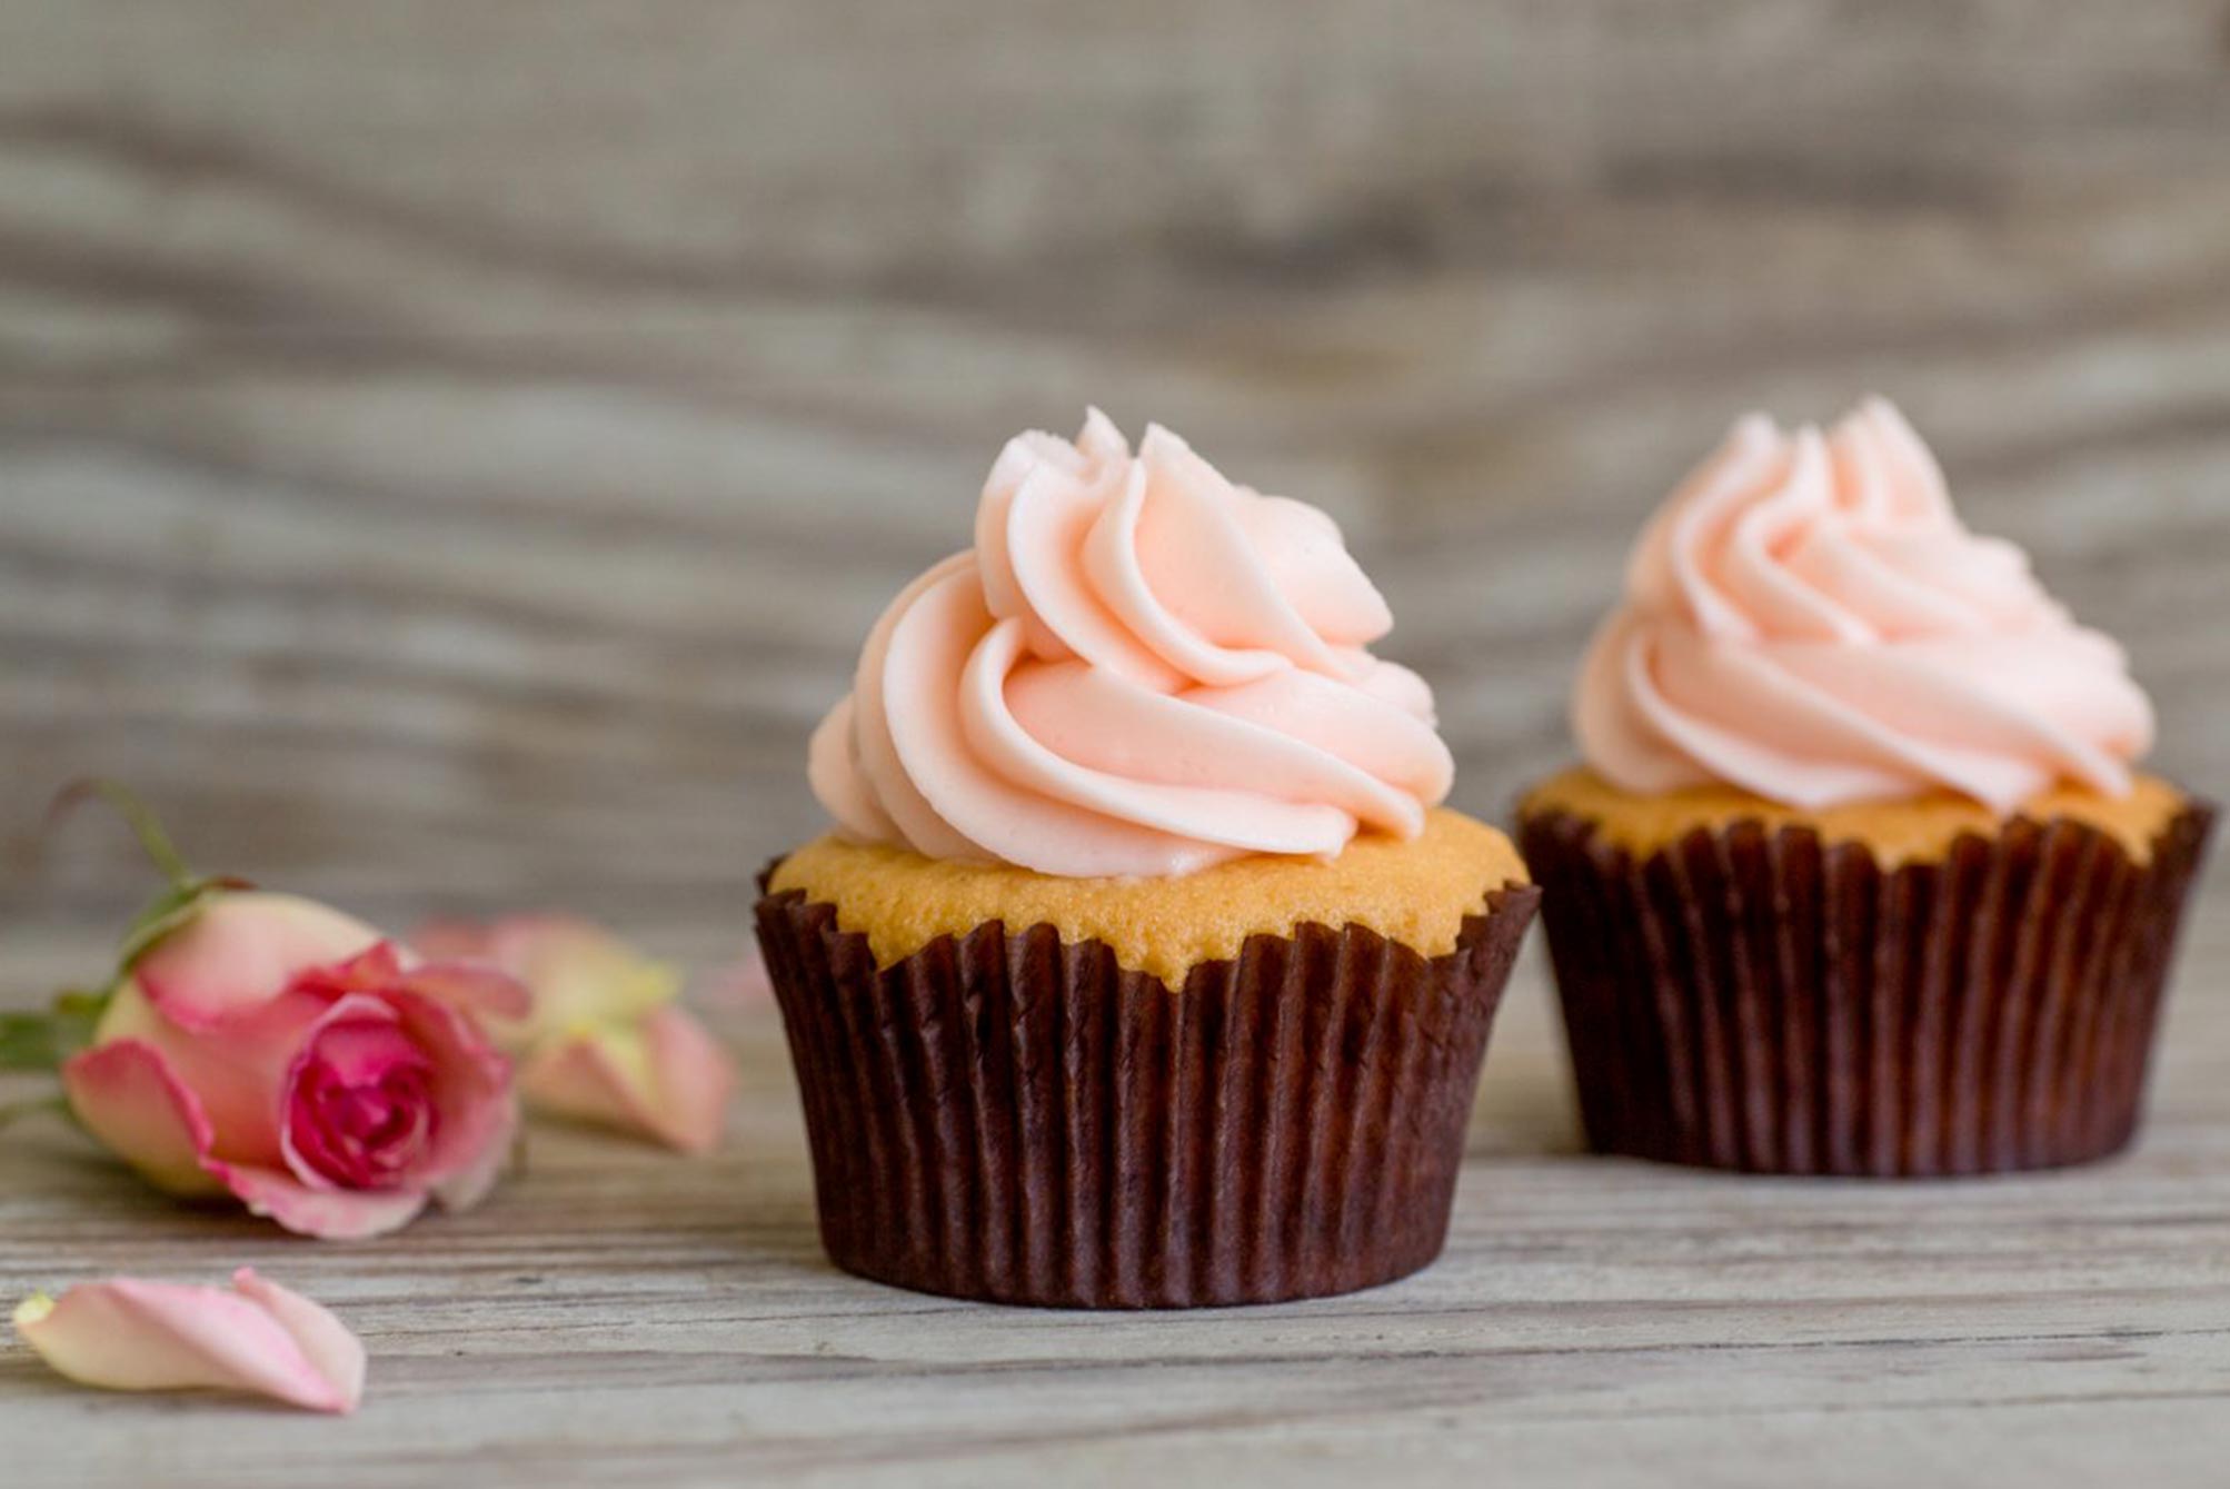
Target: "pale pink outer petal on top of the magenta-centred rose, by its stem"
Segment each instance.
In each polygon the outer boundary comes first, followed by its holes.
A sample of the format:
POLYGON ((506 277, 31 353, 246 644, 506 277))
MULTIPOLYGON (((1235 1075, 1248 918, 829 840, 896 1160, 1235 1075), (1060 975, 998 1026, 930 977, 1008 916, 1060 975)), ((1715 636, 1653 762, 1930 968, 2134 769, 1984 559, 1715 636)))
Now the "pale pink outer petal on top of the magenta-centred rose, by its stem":
POLYGON ((317 900, 248 891, 212 900, 140 958, 134 976, 165 1018, 198 1029, 377 942, 379 931, 317 900))

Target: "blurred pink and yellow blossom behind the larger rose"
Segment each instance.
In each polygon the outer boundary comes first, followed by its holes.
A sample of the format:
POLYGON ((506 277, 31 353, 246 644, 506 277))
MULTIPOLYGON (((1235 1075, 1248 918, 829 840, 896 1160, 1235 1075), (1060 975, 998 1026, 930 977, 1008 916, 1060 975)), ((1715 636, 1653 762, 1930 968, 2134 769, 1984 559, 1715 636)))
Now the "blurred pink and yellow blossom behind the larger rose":
POLYGON ((540 1112, 636 1132, 682 1152, 720 1143, 736 1069, 676 998, 680 973, 609 931, 564 915, 435 926, 419 942, 477 958, 533 993, 522 1022, 495 1022, 540 1112))

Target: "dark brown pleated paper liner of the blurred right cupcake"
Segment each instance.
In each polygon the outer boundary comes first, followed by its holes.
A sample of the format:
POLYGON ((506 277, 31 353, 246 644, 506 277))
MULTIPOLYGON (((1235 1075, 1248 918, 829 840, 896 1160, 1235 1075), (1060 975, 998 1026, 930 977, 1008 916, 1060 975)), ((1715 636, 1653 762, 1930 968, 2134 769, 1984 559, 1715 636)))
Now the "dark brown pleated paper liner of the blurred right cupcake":
POLYGON ((2014 819, 1887 873, 1806 828, 1635 862, 1572 815, 1523 819, 1590 1145, 1880 1176, 2116 1152, 2212 817, 2188 806, 2150 864, 2014 819))

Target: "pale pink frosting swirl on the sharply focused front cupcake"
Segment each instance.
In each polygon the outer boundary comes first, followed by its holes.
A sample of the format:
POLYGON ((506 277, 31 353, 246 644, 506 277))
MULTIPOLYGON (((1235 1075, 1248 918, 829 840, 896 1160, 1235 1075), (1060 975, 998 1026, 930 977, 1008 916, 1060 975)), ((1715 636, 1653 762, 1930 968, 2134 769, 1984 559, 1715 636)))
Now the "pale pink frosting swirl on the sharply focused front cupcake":
POLYGON ((1452 761, 1432 690, 1340 529, 1224 480, 1166 429, 1131 453, 1008 442, 977 545, 905 587, 814 732, 854 842, 1039 873, 1182 875, 1423 830, 1452 761))

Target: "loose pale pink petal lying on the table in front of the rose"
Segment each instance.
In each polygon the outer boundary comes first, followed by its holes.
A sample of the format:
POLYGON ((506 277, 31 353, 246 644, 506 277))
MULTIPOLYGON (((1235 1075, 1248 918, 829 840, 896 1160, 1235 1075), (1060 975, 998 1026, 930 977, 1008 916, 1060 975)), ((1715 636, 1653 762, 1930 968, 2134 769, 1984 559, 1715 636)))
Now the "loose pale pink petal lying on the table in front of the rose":
POLYGON ((363 1344, 299 1293, 252 1270, 234 1293, 114 1277, 27 1297, 16 1333, 60 1375, 107 1391, 252 1391, 308 1411, 363 1400, 363 1344))

